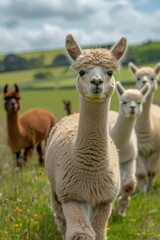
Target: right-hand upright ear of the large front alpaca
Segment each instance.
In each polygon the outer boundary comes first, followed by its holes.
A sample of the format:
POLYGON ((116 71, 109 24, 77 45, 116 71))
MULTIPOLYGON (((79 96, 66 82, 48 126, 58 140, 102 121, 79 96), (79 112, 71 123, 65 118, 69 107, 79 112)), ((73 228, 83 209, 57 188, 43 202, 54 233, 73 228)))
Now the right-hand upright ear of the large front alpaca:
POLYGON ((127 49, 127 39, 122 37, 119 42, 111 48, 111 53, 120 60, 127 49))

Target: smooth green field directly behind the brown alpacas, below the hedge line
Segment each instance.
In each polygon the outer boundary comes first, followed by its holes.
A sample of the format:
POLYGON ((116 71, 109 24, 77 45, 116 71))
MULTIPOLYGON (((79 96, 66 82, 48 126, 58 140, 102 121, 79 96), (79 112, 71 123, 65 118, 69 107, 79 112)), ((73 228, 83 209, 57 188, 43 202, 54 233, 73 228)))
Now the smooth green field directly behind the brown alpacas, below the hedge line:
MULTIPOLYGON (((134 85, 129 86, 129 88, 134 87, 135 87, 134 85)), ((27 109, 33 107, 44 107, 52 111, 54 115, 59 119, 66 114, 62 103, 63 99, 71 100, 73 112, 79 111, 79 95, 76 91, 76 88, 71 90, 21 91, 21 97, 22 97, 21 112, 26 111, 27 109)), ((155 100, 160 102, 160 87, 158 88, 155 94, 155 100)), ((4 118, 5 112, 3 108, 3 96, 1 96, 0 102, 1 102, 0 118, 4 118)), ((114 93, 111 100, 111 109, 118 110, 118 98, 116 93, 114 93)))

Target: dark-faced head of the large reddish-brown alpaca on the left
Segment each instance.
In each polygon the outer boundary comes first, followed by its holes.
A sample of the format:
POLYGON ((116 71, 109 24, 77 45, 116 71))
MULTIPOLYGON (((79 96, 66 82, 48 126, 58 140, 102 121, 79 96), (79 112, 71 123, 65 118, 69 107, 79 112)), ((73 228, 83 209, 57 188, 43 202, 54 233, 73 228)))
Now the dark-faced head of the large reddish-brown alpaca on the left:
POLYGON ((7 112, 14 113, 20 109, 19 87, 14 84, 14 90, 8 89, 8 84, 4 86, 4 108, 7 112))

